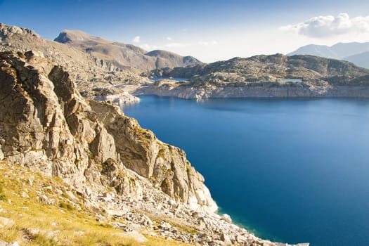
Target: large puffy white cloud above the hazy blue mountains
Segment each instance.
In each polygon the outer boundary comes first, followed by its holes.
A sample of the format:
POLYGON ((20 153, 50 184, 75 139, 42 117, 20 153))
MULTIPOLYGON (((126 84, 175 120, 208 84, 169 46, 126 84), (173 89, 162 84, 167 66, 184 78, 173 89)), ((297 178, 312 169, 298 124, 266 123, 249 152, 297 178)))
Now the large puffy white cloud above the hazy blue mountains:
POLYGON ((337 16, 316 16, 305 22, 280 27, 280 30, 318 38, 350 33, 369 33, 369 15, 355 18, 350 18, 347 13, 340 13, 337 16))

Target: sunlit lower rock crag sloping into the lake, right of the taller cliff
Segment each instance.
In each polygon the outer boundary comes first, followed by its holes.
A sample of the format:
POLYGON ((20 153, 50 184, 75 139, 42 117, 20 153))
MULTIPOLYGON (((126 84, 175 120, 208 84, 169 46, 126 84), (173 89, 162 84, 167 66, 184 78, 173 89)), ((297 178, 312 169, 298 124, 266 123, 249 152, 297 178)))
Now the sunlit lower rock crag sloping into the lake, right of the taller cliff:
POLYGON ((141 129, 135 119, 125 117, 113 105, 95 101, 90 105, 108 133, 114 136, 117 153, 127 168, 193 209, 202 206, 216 210, 209 190, 203 185, 204 178, 190 165, 183 150, 162 143, 153 132, 141 129))

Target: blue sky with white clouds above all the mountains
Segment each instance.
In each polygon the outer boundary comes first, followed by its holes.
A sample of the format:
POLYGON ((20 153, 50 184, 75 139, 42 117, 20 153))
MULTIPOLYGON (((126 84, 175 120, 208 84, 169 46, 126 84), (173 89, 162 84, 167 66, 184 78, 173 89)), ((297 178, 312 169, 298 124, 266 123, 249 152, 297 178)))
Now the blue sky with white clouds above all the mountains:
POLYGON ((368 0, 0 0, 0 22, 46 39, 61 30, 203 62, 369 41, 368 0))

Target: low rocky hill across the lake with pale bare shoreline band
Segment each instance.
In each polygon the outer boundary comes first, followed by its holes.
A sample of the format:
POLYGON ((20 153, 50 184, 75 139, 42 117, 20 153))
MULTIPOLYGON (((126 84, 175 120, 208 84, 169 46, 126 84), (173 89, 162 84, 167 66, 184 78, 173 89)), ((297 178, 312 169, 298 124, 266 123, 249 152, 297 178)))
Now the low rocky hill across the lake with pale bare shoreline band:
POLYGON ((369 97, 369 70, 316 56, 254 56, 153 70, 151 76, 188 77, 141 86, 132 93, 179 98, 369 97))

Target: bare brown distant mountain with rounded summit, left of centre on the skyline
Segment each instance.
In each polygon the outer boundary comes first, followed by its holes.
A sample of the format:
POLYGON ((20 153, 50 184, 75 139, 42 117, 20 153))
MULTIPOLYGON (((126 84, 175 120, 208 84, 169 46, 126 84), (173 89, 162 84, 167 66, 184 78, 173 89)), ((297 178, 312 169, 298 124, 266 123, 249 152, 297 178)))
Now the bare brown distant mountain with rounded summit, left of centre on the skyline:
POLYGON ((138 70, 153 70, 161 67, 183 67, 201 63, 192 56, 179 56, 176 53, 159 50, 147 52, 132 44, 105 40, 78 30, 63 30, 54 41, 90 53, 121 69, 133 67, 138 70))

